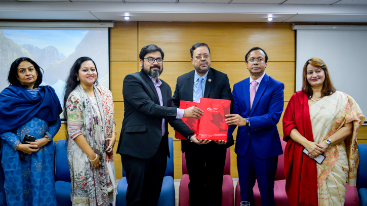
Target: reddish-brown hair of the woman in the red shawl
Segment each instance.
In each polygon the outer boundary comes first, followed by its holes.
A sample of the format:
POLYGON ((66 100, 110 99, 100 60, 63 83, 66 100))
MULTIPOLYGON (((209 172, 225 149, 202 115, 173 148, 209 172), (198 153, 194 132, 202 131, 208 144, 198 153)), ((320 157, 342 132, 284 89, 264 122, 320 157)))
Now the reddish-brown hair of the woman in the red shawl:
POLYGON ((320 68, 325 73, 325 79, 323 80, 322 89, 321 89, 321 97, 323 96, 329 96, 333 94, 335 91, 337 91, 332 83, 332 80, 330 78, 330 74, 328 71, 328 67, 326 66, 325 62, 323 62, 319 58, 312 58, 307 60, 305 65, 303 66, 302 71, 302 90, 304 93, 306 93, 308 98, 311 98, 313 95, 313 90, 311 88, 310 83, 307 81, 307 66, 311 64, 314 67, 320 68))

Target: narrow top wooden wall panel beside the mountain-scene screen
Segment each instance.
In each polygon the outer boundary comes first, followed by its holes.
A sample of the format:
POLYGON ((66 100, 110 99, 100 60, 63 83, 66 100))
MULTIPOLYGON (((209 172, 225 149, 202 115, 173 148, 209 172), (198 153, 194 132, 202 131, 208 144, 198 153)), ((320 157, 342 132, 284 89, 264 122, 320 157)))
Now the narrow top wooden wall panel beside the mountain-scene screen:
POLYGON ((111 29, 110 33, 110 60, 139 60, 138 22, 115 22, 115 27, 111 29))

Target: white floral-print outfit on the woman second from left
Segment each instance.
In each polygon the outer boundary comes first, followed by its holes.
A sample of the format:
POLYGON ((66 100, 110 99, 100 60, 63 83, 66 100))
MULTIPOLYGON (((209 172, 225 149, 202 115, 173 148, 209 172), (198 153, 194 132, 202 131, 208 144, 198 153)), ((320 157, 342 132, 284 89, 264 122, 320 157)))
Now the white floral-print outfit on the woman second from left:
POLYGON ((68 121, 67 158, 71 177, 73 205, 103 205, 113 202, 116 190, 113 154, 103 149, 104 140, 112 136, 114 108, 111 92, 94 87, 95 100, 78 85, 69 95, 66 109, 68 121), (100 156, 101 167, 94 169, 84 153, 73 141, 84 135, 88 144, 100 156))

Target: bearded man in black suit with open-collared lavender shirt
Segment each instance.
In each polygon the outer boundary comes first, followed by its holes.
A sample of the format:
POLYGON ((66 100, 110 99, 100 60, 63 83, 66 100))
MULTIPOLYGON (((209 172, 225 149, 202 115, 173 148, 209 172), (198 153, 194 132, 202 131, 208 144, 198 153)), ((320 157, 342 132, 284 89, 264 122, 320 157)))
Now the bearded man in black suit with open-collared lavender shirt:
POLYGON ((202 114, 197 107, 174 107, 170 86, 158 78, 164 55, 155 45, 143 47, 139 54, 141 71, 124 79, 125 113, 117 153, 126 171, 128 206, 157 205, 170 157, 168 122, 184 137, 196 138, 180 118, 202 114))

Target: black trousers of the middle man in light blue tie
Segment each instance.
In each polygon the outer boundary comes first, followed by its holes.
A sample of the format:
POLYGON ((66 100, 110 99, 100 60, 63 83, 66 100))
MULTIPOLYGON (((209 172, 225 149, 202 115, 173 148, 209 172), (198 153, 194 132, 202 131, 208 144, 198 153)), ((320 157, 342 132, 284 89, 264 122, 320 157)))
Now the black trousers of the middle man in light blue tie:
POLYGON ((190 206, 221 205, 226 148, 211 142, 190 142, 185 150, 189 174, 190 206))

